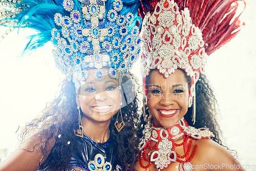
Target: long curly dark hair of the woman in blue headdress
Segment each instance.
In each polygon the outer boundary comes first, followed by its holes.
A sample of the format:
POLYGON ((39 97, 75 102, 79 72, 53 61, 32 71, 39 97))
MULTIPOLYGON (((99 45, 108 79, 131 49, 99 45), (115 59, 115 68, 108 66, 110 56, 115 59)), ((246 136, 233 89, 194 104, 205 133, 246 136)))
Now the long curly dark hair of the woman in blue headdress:
MULTIPOLYGON (((130 78, 124 77, 122 82, 122 86, 125 86, 122 88, 122 96, 127 104, 121 109, 125 126, 118 133, 114 126, 117 115, 114 115, 110 123, 110 135, 116 147, 119 165, 124 170, 134 170, 139 152, 137 148, 139 139, 136 136, 139 120, 134 119, 139 118, 137 98, 139 86, 137 78, 133 75, 130 75, 130 78)), ((74 130, 77 129, 77 122, 78 110, 74 83, 65 79, 62 82, 59 95, 52 102, 47 103, 41 116, 27 123, 20 137, 22 142, 28 135, 35 132, 47 137, 46 140, 41 140, 38 143, 44 156, 47 153, 46 147, 50 139, 54 139, 55 144, 48 156, 47 168, 48 170, 64 170, 69 167, 70 153, 67 152, 75 150, 76 147, 74 130), (57 138, 58 135, 61 135, 61 138, 57 138), (70 144, 67 144, 68 141, 70 144)), ((41 164, 39 162, 39 166, 41 164)))

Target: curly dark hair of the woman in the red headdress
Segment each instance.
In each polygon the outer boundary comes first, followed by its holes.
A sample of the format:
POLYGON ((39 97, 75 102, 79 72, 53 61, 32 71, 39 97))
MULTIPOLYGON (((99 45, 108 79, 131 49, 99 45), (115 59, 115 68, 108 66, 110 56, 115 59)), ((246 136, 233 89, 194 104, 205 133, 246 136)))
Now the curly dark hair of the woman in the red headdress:
MULTIPOLYGON (((157 70, 157 69, 155 69, 157 70)), ((179 69, 181 70, 181 69, 179 69)), ((151 73, 154 70, 151 70, 150 73, 146 76, 146 88, 147 83, 151 77, 151 73)), ((184 70, 181 70, 187 80, 188 87, 190 86, 191 78, 187 76, 184 70)), ((213 91, 209 86, 209 81, 206 79, 204 74, 200 74, 199 80, 196 83, 196 123, 192 122, 192 113, 193 108, 188 108, 187 113, 184 116, 184 119, 187 121, 188 125, 194 126, 196 128, 207 127, 214 136, 211 137, 212 140, 217 143, 222 144, 221 141, 221 130, 220 126, 217 122, 217 114, 218 114, 218 104, 215 98, 213 91)), ((145 111, 146 116, 148 117, 150 114, 148 110, 145 111)), ((141 116, 142 125, 140 127, 139 136, 142 137, 142 130, 144 129, 146 123, 143 121, 143 116, 141 116)), ((223 145, 224 146, 224 145, 223 145)))

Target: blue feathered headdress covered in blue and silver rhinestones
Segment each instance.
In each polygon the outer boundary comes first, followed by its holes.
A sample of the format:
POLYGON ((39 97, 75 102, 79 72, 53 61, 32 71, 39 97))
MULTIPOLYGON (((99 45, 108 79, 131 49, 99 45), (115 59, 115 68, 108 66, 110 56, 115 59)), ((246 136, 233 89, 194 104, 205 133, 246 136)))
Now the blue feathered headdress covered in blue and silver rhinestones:
POLYGON ((18 27, 41 32, 44 41, 38 36, 34 44, 53 41, 56 66, 73 80, 76 90, 80 81, 88 78, 89 69, 96 69, 97 81, 104 79, 102 68, 108 68, 109 76, 120 81, 136 61, 140 51, 136 20, 140 17, 135 17, 139 4, 135 1, 130 4, 134 5, 131 11, 121 0, 24 0, 20 4, 27 8, 13 18, 18 27), (44 25, 40 26, 39 19, 44 25))

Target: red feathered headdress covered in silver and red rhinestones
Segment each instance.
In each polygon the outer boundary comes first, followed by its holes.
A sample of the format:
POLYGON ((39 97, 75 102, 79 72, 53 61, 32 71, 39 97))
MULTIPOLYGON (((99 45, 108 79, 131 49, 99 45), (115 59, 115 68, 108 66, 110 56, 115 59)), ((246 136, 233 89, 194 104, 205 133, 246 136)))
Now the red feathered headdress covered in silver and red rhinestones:
POLYGON ((166 78, 177 68, 184 70, 191 77, 188 99, 191 106, 195 84, 204 71, 208 55, 234 37, 241 26, 238 17, 230 24, 238 7, 232 3, 237 1, 212 4, 186 0, 142 1, 144 7, 147 6, 144 12, 149 9, 141 30, 143 77, 156 68, 166 78))

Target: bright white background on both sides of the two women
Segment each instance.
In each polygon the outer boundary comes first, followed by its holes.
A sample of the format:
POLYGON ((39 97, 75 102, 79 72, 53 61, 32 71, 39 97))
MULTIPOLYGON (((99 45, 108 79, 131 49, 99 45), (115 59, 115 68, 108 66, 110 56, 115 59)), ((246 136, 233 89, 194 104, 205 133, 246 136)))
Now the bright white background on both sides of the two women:
MULTIPOLYGON (((255 168, 256 1, 246 3, 241 16, 246 26, 210 55, 206 75, 219 103, 224 142, 238 152, 243 165, 255 168)), ((18 127, 40 114, 46 102, 54 98, 63 78, 55 68, 51 45, 17 57, 25 48, 30 31, 13 32, 0 42, 0 149, 7 148, 8 154, 18 143, 18 127)))

